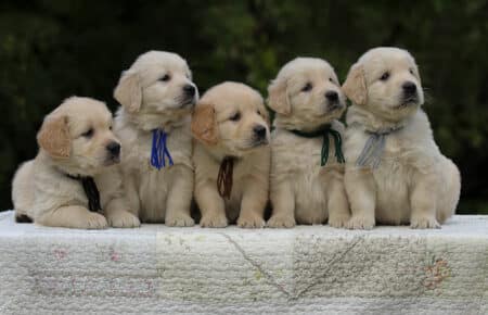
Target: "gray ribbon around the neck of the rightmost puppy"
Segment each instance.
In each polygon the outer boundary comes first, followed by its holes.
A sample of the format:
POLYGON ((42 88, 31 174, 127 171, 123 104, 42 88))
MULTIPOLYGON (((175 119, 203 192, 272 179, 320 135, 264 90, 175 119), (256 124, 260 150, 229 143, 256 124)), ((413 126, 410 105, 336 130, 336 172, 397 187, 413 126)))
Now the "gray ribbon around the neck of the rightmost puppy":
MULTIPOLYGON (((400 127, 401 128, 401 127, 400 127)), ((356 161, 356 166, 376 168, 382 161, 383 151, 385 149, 386 136, 400 128, 391 128, 387 130, 367 131, 370 134, 368 141, 362 148, 361 154, 359 154, 356 161)))

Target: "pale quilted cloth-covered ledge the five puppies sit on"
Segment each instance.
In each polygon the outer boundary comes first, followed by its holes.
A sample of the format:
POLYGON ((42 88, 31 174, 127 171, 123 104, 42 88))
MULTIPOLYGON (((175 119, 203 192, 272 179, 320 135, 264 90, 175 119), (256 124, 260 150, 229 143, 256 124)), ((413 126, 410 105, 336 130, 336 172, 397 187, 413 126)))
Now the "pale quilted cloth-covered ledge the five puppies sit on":
POLYGON ((488 216, 439 230, 98 231, 0 213, 1 314, 487 314, 488 216))

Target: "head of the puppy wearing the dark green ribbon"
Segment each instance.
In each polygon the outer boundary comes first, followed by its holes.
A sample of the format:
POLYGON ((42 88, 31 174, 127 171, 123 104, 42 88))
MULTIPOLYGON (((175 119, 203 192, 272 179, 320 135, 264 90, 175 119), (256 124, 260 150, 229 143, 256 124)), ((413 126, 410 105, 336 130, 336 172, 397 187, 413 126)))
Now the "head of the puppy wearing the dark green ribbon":
POLYGON ((297 58, 285 64, 268 93, 268 105, 277 112, 277 118, 299 129, 330 123, 346 109, 334 70, 316 58, 297 58))

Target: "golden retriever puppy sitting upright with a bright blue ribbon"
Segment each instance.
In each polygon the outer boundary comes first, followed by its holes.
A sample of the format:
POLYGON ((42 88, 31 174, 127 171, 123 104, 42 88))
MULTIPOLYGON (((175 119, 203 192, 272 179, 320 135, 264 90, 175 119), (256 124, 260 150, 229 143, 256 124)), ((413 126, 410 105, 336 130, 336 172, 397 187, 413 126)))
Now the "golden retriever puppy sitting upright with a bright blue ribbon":
POLYGON ((187 62, 170 52, 146 52, 123 73, 114 97, 121 104, 115 133, 125 148, 120 168, 132 213, 108 219, 194 225, 190 115, 198 91, 187 62))

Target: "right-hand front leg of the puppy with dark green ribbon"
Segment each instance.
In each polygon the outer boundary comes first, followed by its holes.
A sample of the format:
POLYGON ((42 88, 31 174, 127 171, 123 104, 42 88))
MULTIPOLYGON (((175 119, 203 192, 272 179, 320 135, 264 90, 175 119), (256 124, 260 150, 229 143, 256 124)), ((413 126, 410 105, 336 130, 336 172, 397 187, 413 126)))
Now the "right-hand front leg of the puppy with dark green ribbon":
POLYGON ((345 227, 350 219, 349 202, 342 177, 331 180, 328 189, 329 225, 333 227, 345 227))

